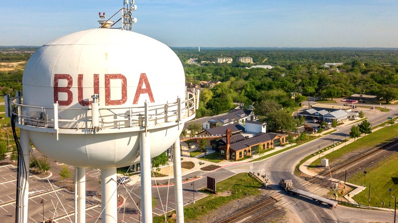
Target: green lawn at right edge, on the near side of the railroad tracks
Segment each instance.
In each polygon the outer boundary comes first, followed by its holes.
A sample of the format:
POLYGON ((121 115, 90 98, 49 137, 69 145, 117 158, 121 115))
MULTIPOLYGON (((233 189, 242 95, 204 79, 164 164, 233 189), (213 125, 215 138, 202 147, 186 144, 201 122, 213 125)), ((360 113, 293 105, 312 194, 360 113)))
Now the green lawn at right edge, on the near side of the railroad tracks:
MULTIPOLYGON (((366 136, 367 137, 367 136, 366 136)), ((384 207, 388 207, 390 192, 391 196, 398 196, 398 153, 388 157, 387 159, 377 163, 371 169, 366 170, 366 189, 354 197, 354 200, 361 205, 369 204, 369 182, 370 182, 370 205, 381 207, 382 202, 384 207)), ((348 181, 357 185, 364 184, 363 171, 350 176, 348 181)), ((391 207, 394 208, 394 199, 391 198, 391 207)))

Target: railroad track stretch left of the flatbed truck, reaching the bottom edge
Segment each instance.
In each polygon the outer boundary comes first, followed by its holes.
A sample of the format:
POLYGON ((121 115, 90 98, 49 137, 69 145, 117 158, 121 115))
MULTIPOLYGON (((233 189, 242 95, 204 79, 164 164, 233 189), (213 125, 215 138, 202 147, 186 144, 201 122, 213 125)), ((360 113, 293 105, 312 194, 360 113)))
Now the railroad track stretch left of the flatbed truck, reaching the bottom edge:
MULTIPOLYGON (((219 221, 219 223, 230 223, 230 222, 236 222, 240 221, 244 218, 248 218, 254 214, 261 213, 263 216, 261 219, 265 219, 267 216, 275 214, 275 212, 269 212, 269 211, 264 211, 263 209, 266 209, 268 205, 275 204, 277 201, 275 199, 269 198, 259 204, 250 206, 250 207, 245 207, 244 210, 240 211, 239 213, 236 213, 226 219, 223 219, 219 221)), ((272 208, 275 209, 275 208, 272 208)), ((271 210, 272 210, 271 209, 271 210)), ((257 217, 256 217, 257 218, 257 217)), ((252 220, 250 220, 252 222, 252 220)))

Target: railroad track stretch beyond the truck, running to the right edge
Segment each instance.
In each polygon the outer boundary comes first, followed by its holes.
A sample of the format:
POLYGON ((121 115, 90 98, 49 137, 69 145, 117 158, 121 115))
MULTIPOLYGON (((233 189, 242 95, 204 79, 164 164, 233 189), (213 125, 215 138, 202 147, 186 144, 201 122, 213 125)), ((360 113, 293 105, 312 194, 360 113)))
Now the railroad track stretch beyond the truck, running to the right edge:
POLYGON ((328 187, 331 184, 330 183, 331 175, 334 179, 344 180, 345 173, 350 175, 358 172, 359 170, 364 170, 368 168, 369 165, 377 163, 378 161, 396 152, 397 146, 398 146, 398 140, 394 140, 390 143, 372 149, 352 160, 334 166, 333 168, 330 169, 330 171, 329 170, 324 171, 320 173, 318 177, 314 177, 308 180, 307 182, 318 183, 322 187, 328 187))

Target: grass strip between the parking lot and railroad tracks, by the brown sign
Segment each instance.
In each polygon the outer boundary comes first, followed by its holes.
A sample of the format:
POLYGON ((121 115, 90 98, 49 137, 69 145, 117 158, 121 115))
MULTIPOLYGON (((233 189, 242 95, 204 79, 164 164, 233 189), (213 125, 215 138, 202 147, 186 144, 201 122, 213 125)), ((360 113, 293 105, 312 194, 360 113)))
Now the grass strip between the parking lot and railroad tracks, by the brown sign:
MULTIPOLYGON (((223 181, 217 182, 217 192, 230 192, 230 196, 216 196, 213 193, 201 189, 202 193, 208 194, 201 200, 197 200, 195 204, 189 204, 184 206, 184 220, 190 221, 197 219, 203 215, 210 213, 212 210, 218 209, 222 205, 229 203, 230 201, 242 199, 247 196, 260 194, 259 188, 262 186, 255 178, 251 177, 249 174, 242 173, 237 174, 233 177, 225 179, 223 181), (248 195, 246 195, 248 193, 248 195)), ((172 211, 167 213, 167 222, 176 222, 175 219, 170 219, 172 211)), ((156 216, 153 218, 153 222, 165 222, 164 216, 156 216)))

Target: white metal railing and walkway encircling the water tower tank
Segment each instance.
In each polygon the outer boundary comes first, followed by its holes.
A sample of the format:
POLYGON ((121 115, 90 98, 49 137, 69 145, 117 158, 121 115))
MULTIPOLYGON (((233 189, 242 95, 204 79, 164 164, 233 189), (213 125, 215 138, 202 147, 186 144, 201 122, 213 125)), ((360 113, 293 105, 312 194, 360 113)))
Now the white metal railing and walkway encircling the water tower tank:
MULTIPOLYGON (((20 97, 21 100, 21 96, 20 97)), ((177 122, 191 120, 196 111, 196 97, 188 92, 186 99, 178 98, 174 102, 165 104, 137 107, 100 108, 99 130, 122 128, 156 128, 157 126, 175 125, 177 122), (145 114, 145 110, 147 113, 145 114), (145 116, 147 118, 145 118, 145 116), (145 123, 145 120, 147 123, 145 123)), ((17 97, 16 97, 17 98, 17 97)), ((16 103, 11 101, 12 112, 18 116, 20 126, 54 129, 54 107, 41 107, 16 103)), ((19 100, 18 100, 19 101, 19 100)), ((58 126, 60 129, 92 130, 91 107, 87 108, 58 108, 58 126)))

